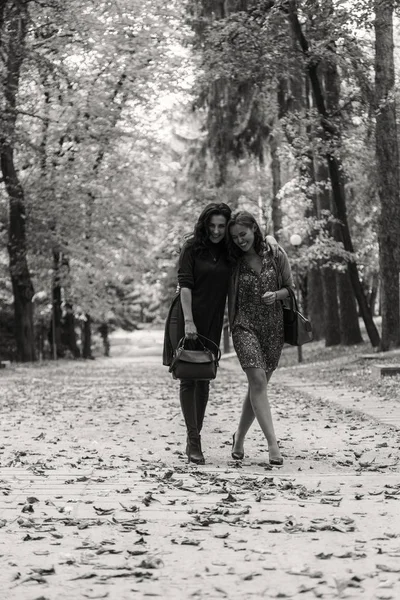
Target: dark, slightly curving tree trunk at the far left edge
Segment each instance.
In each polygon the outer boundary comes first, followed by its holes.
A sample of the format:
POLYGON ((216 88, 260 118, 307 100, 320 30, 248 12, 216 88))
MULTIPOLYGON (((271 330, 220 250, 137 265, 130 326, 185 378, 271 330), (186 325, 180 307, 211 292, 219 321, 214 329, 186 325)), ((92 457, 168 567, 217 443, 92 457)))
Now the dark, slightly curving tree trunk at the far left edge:
POLYGON ((36 354, 32 304, 34 289, 27 261, 25 197, 14 165, 17 92, 23 61, 26 26, 26 6, 22 3, 16 3, 10 11, 9 44, 4 85, 4 117, 0 134, 0 163, 9 197, 8 254, 14 294, 17 355, 18 360, 33 361, 36 354))

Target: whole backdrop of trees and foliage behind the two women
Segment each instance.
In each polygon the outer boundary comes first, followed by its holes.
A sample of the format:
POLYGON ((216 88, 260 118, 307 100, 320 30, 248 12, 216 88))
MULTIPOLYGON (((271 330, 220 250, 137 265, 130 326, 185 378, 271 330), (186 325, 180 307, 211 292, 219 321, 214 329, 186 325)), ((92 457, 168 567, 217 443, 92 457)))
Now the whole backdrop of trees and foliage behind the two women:
POLYGON ((161 319, 182 238, 217 198, 250 208, 286 247, 327 343, 339 309, 356 319, 356 299, 372 344, 383 306, 382 347, 398 345, 398 316, 385 316, 398 290, 384 285, 400 260, 398 189, 385 175, 397 137, 383 133, 397 122, 395 9, 1 2, 0 312, 16 311, 16 356, 35 354, 21 319, 61 319, 66 305, 123 326, 161 319))

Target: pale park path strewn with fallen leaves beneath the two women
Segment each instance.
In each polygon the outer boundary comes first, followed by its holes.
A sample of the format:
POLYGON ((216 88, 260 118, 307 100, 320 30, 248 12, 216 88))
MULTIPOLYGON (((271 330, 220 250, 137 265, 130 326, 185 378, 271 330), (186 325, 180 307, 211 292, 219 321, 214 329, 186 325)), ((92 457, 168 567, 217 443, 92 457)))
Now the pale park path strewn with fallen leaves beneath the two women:
POLYGON ((400 597, 390 424, 277 373, 285 464, 270 468, 257 427, 237 464, 245 380, 226 360, 205 421, 207 463, 188 465, 177 383, 153 354, 1 373, 4 597, 400 597))

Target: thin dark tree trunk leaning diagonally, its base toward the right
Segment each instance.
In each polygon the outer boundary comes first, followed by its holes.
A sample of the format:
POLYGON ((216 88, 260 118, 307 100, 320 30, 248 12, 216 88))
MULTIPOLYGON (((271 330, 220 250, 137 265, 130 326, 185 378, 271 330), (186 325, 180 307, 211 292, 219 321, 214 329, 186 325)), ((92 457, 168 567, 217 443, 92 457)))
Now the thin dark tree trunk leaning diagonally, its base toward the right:
MULTIPOLYGON (((310 47, 308 40, 305 38, 300 21, 297 15, 297 2, 296 0, 289 0, 288 2, 289 18, 293 28, 293 32, 299 42, 300 48, 304 55, 310 59, 310 47)), ((326 110, 326 102, 322 91, 321 83, 318 76, 318 63, 315 60, 307 61, 307 70, 310 77, 311 88, 315 100, 316 108, 321 116, 321 127, 326 136, 327 140, 334 143, 334 146, 340 145, 340 132, 338 132, 334 123, 329 119, 328 112, 326 110)), ((328 161, 329 177, 332 186, 332 198, 336 207, 337 216, 341 221, 342 225, 342 236, 345 250, 354 253, 353 243, 351 240, 349 224, 347 220, 347 209, 346 200, 344 194, 344 186, 342 181, 342 168, 340 160, 336 154, 332 153, 329 146, 326 150, 326 159, 328 161)), ((361 316, 364 320, 365 327, 368 332, 371 344, 376 347, 380 344, 380 338, 375 323, 371 317, 371 311, 368 306, 364 290, 362 288, 358 267, 356 262, 350 262, 348 264, 348 271, 350 275, 351 284, 354 290, 354 294, 357 298, 357 302, 360 308, 361 316)))

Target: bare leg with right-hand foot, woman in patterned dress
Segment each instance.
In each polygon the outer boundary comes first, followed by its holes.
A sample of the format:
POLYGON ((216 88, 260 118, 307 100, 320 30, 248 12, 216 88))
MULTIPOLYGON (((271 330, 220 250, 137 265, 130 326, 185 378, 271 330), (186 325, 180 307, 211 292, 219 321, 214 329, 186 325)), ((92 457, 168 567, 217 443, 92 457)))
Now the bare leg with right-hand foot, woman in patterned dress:
POLYGON ((272 422, 271 408, 267 396, 267 383, 271 374, 266 374, 263 369, 246 369, 249 382, 250 402, 254 415, 267 438, 270 459, 281 458, 274 425, 272 422))

